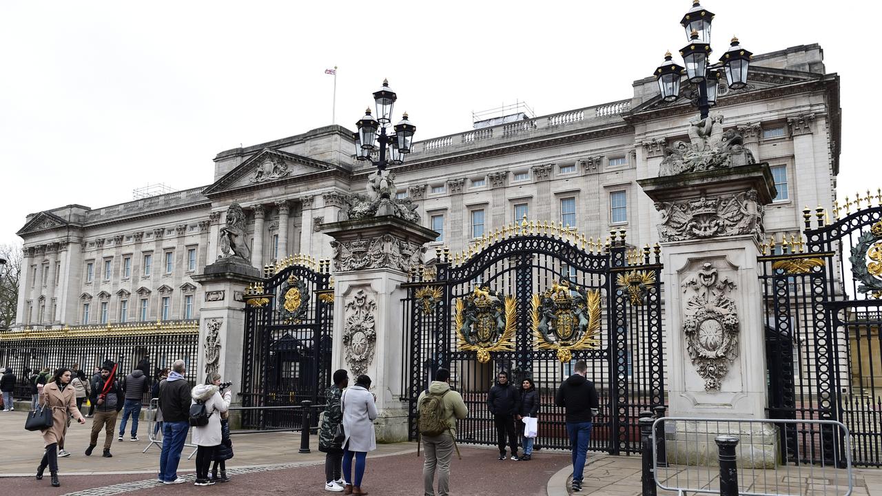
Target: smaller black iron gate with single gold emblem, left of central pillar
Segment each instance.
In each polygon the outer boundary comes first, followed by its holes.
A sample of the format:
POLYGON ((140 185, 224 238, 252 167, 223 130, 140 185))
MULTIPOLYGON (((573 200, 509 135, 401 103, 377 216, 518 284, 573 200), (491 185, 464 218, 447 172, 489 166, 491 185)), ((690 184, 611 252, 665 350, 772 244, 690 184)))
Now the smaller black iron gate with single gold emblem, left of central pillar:
MULTIPOLYGON (((325 401, 331 381, 333 279, 328 263, 306 256, 265 267, 245 291, 242 404, 246 407, 325 401)), ((250 428, 297 428, 295 410, 245 410, 250 428)))

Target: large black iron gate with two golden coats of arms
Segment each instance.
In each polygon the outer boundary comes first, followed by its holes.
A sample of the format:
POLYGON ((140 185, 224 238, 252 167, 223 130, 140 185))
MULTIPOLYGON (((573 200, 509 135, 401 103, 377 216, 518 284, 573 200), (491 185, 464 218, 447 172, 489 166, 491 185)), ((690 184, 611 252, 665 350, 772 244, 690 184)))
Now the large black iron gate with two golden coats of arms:
POLYGON ((485 401, 506 370, 516 386, 528 377, 539 389, 537 446, 569 447, 554 395, 585 360, 601 399, 590 448, 639 452, 639 412, 665 404, 662 266, 657 246, 629 249, 624 231, 612 234, 602 246, 559 226, 522 224, 461 258, 438 251, 434 274, 415 274, 404 310, 412 437, 415 400, 444 366, 469 410, 460 441, 495 444, 485 401))

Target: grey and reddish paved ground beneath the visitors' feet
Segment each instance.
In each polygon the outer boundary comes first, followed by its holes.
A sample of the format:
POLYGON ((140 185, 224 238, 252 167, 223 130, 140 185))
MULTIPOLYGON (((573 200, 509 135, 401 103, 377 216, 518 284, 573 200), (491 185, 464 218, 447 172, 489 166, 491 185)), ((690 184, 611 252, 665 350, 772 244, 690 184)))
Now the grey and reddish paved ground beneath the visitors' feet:
MULTIPOLYGON (((72 496, 133 493, 162 496, 206 491, 212 494, 327 494, 324 491, 324 458, 316 448, 300 454, 300 434, 295 432, 251 433, 233 438, 235 458, 228 462, 233 478, 228 484, 211 489, 185 485, 160 485, 155 479, 159 448, 142 441, 114 440, 111 459, 87 457, 82 451, 88 444, 89 425, 71 425, 67 448, 73 455, 59 459, 62 487, 52 488, 49 477, 37 482, 34 470, 41 457, 42 439, 38 433, 23 429, 23 412, 0 413, 0 446, 4 461, 0 481, 4 494, 72 496)), ((146 432, 146 424, 142 427, 146 432)), ((192 449, 192 448, 190 448, 192 449)), ((452 493, 457 496, 479 494, 517 494, 519 496, 568 496, 571 475, 568 453, 542 450, 530 462, 497 461, 495 447, 461 447, 462 460, 452 462, 452 493)), ((185 451, 184 455, 189 455, 185 451)), ((192 480, 193 461, 182 460, 180 473, 192 480)), ((641 462, 639 456, 589 454, 585 471, 585 491, 592 496, 637 496, 640 494, 641 462)), ((882 470, 855 470, 857 496, 882 496, 882 470)), ((790 479, 796 485, 795 479, 790 479)), ((370 453, 363 482, 365 490, 389 496, 422 494, 422 458, 417 458, 414 443, 380 445, 370 453)), ((791 487, 795 489, 795 487, 791 487)), ((828 488, 830 489, 830 488, 828 488)), ((841 488, 840 488, 841 489, 841 488)), ((811 492, 802 492, 809 494, 811 492)), ((842 494, 843 492, 838 492, 842 494)), ((667 494, 659 491, 660 495, 667 494)), ((827 491, 828 496, 837 492, 827 491)))

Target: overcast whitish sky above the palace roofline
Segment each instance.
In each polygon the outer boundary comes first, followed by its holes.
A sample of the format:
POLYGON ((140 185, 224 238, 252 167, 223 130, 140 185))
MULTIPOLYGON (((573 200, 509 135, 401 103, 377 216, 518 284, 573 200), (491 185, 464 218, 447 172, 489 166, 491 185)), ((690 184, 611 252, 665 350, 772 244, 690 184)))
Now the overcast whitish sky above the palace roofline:
MULTIPOLYGON (((754 53, 820 43, 841 75, 840 196, 882 186, 871 127, 882 114, 879 4, 703 5, 716 13, 717 56, 733 34, 754 53)), ((388 78, 396 119, 407 110, 418 140, 466 131, 473 110, 516 99, 543 115, 630 98, 634 79, 684 46, 678 21, 690 7, 6 0, 0 244, 19 241, 28 213, 128 201, 147 183, 210 184, 219 151, 330 124, 334 65, 338 124, 353 129, 388 78)))

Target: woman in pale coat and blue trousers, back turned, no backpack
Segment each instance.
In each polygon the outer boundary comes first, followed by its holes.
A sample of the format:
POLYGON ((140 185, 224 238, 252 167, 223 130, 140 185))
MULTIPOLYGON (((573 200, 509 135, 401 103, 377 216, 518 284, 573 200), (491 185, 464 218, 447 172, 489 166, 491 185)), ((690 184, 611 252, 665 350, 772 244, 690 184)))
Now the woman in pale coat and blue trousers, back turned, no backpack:
POLYGON ((370 377, 358 376, 355 386, 348 387, 340 397, 343 410, 343 479, 344 494, 367 494, 362 489, 364 463, 368 452, 377 449, 374 419, 377 418, 377 398, 368 392, 370 377), (355 480, 352 478, 352 458, 355 456, 355 480))

